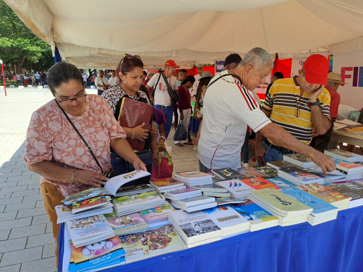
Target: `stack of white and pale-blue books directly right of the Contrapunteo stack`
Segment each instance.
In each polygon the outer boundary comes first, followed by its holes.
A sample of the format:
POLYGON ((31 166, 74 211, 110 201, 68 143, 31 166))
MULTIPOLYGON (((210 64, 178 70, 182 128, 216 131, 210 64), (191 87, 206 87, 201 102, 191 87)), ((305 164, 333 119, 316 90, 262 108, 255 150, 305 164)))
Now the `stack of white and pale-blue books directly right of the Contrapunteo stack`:
POLYGON ((250 222, 228 205, 205 209, 203 213, 221 229, 222 237, 249 231, 250 222))

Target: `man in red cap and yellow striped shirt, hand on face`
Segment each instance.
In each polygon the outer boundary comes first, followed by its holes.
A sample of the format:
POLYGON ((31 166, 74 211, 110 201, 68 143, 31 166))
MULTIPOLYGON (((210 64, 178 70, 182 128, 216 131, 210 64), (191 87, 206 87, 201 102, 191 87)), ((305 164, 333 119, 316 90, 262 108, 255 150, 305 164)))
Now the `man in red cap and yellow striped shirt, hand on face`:
MULTIPOLYGON (((320 54, 310 55, 299 69, 298 76, 275 81, 262 111, 274 124, 285 128, 302 143, 309 145, 313 137, 313 128, 318 135, 323 135, 330 128, 330 95, 324 88, 328 81, 329 61, 320 54)), ((269 161, 282 160, 284 154, 293 153, 265 139, 256 133, 256 159, 258 165, 269 161)))

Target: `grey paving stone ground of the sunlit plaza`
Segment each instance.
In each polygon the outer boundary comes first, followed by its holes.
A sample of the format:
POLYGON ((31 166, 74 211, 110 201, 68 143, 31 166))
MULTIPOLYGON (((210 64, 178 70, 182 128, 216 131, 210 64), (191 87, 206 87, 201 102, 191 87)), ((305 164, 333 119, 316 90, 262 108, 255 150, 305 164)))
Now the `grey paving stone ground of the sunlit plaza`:
MULTIPOLYGON (((40 176, 28 171, 23 159, 30 117, 51 99, 48 89, 7 88, 7 96, 0 89, 0 272, 57 271, 40 176)), ((199 169, 197 151, 191 145, 176 147, 173 134, 172 129, 167 143, 174 172, 199 169)), ((195 142, 195 133, 191 137, 195 142)))

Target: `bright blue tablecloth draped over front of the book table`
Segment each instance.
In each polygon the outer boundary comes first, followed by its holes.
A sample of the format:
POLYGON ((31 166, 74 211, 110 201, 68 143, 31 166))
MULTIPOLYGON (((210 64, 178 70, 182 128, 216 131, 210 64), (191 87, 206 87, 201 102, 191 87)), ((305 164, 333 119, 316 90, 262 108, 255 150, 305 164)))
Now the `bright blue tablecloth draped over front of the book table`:
MULTIPOLYGON (((339 211, 317 226, 302 223, 247 232, 215 243, 105 271, 336 272, 363 271, 363 207, 339 211)), ((63 256, 59 235, 59 265, 63 256)))

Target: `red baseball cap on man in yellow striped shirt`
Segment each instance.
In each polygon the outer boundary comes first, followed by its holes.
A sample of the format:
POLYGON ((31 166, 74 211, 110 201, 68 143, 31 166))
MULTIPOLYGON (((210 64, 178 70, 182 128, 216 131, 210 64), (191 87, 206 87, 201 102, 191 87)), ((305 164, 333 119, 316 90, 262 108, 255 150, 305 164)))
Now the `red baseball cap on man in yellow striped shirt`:
POLYGON ((327 85, 329 61, 321 54, 314 54, 306 59, 302 66, 305 70, 305 79, 310 84, 327 85))

